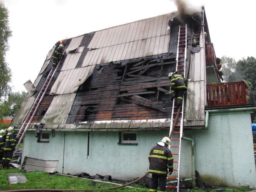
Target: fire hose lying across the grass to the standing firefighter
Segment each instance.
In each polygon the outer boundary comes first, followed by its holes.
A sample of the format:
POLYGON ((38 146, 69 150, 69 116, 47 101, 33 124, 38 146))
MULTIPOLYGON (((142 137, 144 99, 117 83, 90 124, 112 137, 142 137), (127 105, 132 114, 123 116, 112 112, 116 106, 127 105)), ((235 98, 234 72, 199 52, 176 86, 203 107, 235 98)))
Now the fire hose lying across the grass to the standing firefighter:
POLYGON ((120 186, 116 186, 116 187, 109 187, 109 188, 99 188, 99 189, 17 189, 17 190, 7 190, 7 191, 2 191, 2 192, 43 192, 43 191, 86 191, 86 192, 91 192, 94 190, 112 190, 112 189, 119 189, 121 187, 126 187, 127 185, 131 185, 133 183, 136 183, 137 181, 143 179, 144 177, 146 177, 148 175, 148 172, 145 173, 145 175, 143 175, 142 177, 131 181, 130 183, 124 184, 124 185, 120 185, 120 186))

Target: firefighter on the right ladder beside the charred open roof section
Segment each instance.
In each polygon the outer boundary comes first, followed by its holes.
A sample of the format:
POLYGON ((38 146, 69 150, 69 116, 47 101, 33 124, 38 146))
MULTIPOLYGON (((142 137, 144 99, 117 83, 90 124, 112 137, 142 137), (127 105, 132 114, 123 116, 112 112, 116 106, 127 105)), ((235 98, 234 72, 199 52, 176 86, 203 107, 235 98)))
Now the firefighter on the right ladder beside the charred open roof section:
POLYGON ((180 105, 182 105, 184 92, 187 90, 185 86, 185 78, 177 74, 177 71, 170 72, 168 77, 171 81, 171 86, 170 86, 170 93, 172 94, 171 99, 177 98, 177 106, 179 107, 180 105))

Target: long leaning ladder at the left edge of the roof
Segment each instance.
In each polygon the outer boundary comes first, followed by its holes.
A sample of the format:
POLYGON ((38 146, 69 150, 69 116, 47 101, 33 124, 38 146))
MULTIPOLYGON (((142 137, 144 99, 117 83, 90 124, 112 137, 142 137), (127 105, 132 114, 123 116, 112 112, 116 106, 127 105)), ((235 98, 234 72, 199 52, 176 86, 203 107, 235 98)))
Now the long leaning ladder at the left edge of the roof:
MULTIPOLYGON (((59 63, 60 63, 60 61, 59 61, 59 63)), ((27 115, 20 127, 20 130, 16 136, 16 140, 18 141, 18 143, 15 147, 15 151, 13 152, 13 155, 15 155, 15 152, 17 151, 17 147, 19 147, 20 142, 22 141, 22 138, 24 137, 25 132, 29 128, 29 125, 30 125, 42 99, 44 98, 44 95, 49 87, 49 84, 51 83, 52 77, 54 76, 56 69, 59 66, 59 63, 56 67, 52 67, 51 71, 49 72, 49 74, 46 78, 46 81, 44 82, 44 85, 42 86, 42 89, 40 90, 39 94, 37 95, 37 98, 35 99, 34 103, 32 104, 32 107, 30 108, 29 112, 27 113, 27 115)))

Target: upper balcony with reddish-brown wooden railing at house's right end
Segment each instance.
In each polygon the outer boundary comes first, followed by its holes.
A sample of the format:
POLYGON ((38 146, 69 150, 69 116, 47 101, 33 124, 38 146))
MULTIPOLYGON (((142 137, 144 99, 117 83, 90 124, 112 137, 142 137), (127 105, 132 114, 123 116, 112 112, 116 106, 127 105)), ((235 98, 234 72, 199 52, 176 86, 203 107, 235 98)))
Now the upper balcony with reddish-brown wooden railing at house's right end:
POLYGON ((207 82, 220 82, 221 76, 219 74, 219 67, 212 43, 205 44, 205 64, 207 82))

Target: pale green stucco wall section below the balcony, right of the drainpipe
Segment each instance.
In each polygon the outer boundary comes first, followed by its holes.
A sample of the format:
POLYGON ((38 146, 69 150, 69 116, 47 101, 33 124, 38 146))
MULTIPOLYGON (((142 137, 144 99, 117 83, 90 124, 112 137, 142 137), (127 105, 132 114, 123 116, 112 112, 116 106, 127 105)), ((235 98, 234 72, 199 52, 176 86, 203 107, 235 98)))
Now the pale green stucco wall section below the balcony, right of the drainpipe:
POLYGON ((207 182, 256 187, 248 111, 210 112, 209 130, 194 131, 194 138, 196 170, 205 179, 213 176, 207 182))

